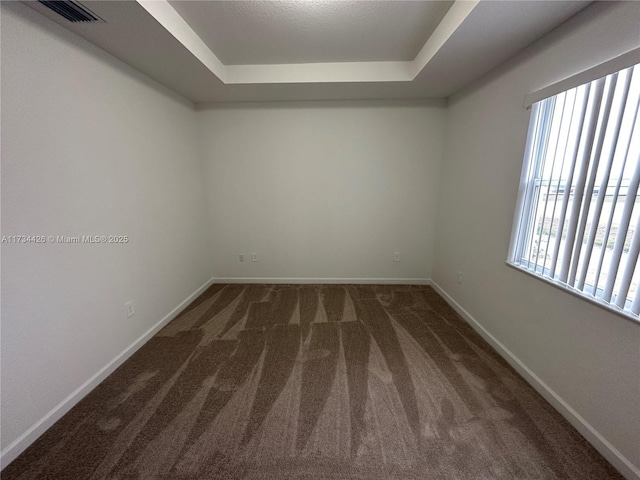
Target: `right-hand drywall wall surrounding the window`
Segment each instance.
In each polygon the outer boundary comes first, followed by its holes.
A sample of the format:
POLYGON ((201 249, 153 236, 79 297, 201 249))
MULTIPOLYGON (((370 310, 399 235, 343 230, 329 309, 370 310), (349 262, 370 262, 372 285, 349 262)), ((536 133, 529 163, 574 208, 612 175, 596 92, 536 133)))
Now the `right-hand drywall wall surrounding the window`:
POLYGON ((636 468, 640 324, 504 262, 529 120, 524 96, 637 47, 639 19, 638 3, 596 3, 450 99, 433 267, 436 283, 636 468))

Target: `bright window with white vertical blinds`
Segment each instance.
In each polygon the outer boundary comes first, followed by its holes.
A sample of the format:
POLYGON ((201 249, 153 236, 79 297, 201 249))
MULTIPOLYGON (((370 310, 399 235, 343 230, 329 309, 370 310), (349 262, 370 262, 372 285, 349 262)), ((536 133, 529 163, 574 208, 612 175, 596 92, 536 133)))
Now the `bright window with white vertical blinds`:
POLYGON ((636 65, 532 105, 508 259, 636 320, 639 103, 636 65))

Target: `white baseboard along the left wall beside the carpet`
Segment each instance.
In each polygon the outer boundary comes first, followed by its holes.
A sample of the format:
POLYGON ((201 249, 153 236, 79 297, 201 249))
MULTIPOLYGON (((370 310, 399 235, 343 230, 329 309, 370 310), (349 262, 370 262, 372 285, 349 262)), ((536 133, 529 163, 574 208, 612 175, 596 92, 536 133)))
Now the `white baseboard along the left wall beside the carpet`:
POLYGON ((60 402, 49 413, 38 420, 31 428, 25 433, 20 435, 11 445, 7 446, 0 452, 0 470, 9 465, 15 458, 20 455, 29 445, 35 442, 40 435, 42 435, 47 429, 49 429, 54 423, 56 423, 64 414, 66 414, 74 405, 82 400, 91 390, 93 390, 100 382, 107 378, 111 373, 115 371, 125 360, 133 355, 140 347, 142 347, 147 341, 160 331, 171 320, 176 318, 182 310, 184 310, 193 300, 195 300, 200 294, 202 294, 211 284, 214 283, 214 279, 208 280, 204 285, 198 288, 195 292, 189 295, 180 305, 171 310, 162 320, 156 323, 153 327, 142 334, 136 341, 129 345, 124 351, 118 354, 113 360, 102 367, 95 375, 89 380, 78 387, 71 395, 60 402))

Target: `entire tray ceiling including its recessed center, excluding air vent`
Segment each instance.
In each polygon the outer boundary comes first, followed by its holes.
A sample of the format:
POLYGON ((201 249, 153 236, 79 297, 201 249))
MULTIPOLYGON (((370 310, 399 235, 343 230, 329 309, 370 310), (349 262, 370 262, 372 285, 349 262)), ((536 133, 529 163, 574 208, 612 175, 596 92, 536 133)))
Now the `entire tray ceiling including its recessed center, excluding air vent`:
POLYGON ((25 3, 186 98, 208 103, 448 97, 591 2, 84 1, 106 21, 95 24, 70 23, 37 2, 25 3), (305 3, 316 14, 322 5, 331 8, 321 21, 310 11, 304 23, 305 3), (358 35, 338 20, 345 12, 351 22, 367 24, 358 35), (386 30, 379 27, 384 16, 386 30), (417 20, 407 23, 407 16, 417 20), (207 30, 216 21, 229 25, 207 30), (258 21, 266 26, 247 39, 233 33, 258 21), (336 22, 340 28, 333 30, 336 22), (282 48, 303 27, 316 42, 282 48), (283 60, 298 63, 273 63, 283 60))

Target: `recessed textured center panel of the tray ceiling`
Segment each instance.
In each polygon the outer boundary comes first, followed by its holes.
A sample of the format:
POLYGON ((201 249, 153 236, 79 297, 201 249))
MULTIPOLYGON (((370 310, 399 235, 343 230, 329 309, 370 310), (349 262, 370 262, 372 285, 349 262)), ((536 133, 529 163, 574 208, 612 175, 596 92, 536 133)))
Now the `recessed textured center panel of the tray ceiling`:
POLYGON ((452 1, 170 1, 225 65, 413 60, 452 1))

